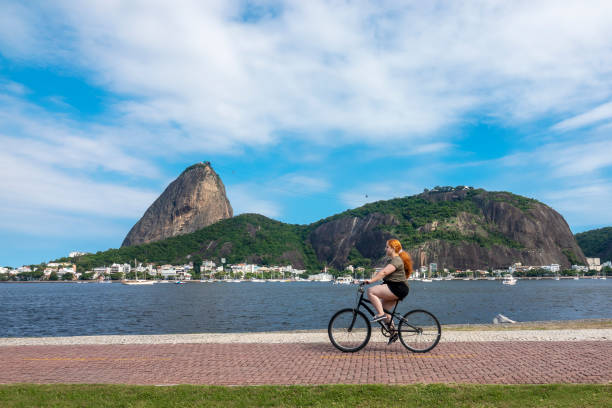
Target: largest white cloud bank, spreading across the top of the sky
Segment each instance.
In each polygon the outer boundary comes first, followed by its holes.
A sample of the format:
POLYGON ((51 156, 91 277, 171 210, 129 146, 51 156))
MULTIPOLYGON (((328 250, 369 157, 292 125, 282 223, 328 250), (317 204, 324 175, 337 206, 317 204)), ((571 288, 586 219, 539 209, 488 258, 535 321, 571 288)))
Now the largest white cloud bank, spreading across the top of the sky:
POLYGON ((609 2, 278 2, 276 17, 246 23, 237 1, 53 4, 39 12, 48 26, 33 8, 13 13, 30 40, 0 32, 5 45, 59 51, 127 96, 115 108, 129 123, 178 124, 171 151, 268 145, 282 131, 436 139, 475 110, 573 115, 612 85, 609 2))

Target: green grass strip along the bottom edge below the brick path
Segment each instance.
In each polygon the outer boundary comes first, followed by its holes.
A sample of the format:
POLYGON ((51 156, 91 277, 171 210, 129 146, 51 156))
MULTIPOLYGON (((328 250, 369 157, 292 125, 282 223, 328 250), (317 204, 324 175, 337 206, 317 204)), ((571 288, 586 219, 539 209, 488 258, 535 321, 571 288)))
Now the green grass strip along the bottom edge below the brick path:
POLYGON ((609 407, 612 385, 2 385, 2 407, 609 407))

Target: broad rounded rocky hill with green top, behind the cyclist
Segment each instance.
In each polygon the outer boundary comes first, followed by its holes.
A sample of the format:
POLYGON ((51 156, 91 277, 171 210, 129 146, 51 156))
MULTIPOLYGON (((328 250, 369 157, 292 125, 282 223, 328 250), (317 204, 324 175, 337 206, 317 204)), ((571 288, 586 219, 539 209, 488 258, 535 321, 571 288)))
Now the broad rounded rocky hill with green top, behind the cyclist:
POLYGON ((506 268, 586 263, 563 217, 536 200, 508 192, 437 187, 411 197, 366 204, 316 223, 310 242, 322 262, 374 262, 396 237, 416 266, 506 268))

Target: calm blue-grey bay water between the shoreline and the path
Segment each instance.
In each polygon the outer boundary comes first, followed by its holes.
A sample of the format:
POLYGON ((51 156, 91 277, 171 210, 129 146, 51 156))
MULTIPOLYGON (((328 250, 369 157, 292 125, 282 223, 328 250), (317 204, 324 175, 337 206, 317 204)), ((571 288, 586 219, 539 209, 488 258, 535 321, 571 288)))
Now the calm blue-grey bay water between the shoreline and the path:
MULTIPOLYGON (((356 286, 330 283, 0 284, 0 337, 324 329, 356 286)), ((442 324, 612 318, 612 279, 413 282, 400 310, 442 324)))

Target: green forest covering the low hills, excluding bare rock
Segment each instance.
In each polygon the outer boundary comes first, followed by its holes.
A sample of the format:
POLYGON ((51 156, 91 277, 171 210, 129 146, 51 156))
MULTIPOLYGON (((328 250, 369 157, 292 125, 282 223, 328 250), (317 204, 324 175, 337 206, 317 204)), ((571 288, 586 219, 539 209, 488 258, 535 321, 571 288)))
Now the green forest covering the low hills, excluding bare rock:
MULTIPOLYGON (((243 261, 263 265, 291 263, 307 269, 318 269, 322 263, 317 260, 308 237, 324 223, 344 217, 364 218, 372 213, 392 214, 399 225, 380 225, 380 228, 400 239, 404 247, 410 248, 430 240, 449 242, 472 242, 482 247, 493 244, 520 248, 521 245, 495 231, 482 217, 482 202, 487 200, 505 201, 523 211, 528 210, 535 200, 507 192, 486 192, 482 189, 437 187, 423 194, 377 201, 362 207, 347 210, 310 225, 292 225, 275 221, 258 214, 242 214, 219 221, 199 231, 176 236, 145 245, 109 249, 88 254, 75 260, 79 270, 112 263, 155 262, 177 263, 198 258, 216 259, 225 257, 228 263, 243 261), (437 199, 437 194, 461 192, 453 199, 437 199), (478 200, 478 205, 477 205, 478 200), (466 231, 456 225, 459 214, 472 214, 472 230, 466 231), (425 227, 438 222, 435 229, 425 227)), ((67 261, 67 258, 59 261, 67 261)), ((363 257, 356 248, 348 259, 354 265, 367 266, 371 259, 363 257)))

